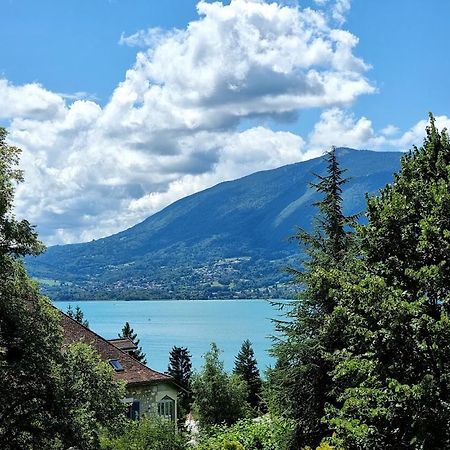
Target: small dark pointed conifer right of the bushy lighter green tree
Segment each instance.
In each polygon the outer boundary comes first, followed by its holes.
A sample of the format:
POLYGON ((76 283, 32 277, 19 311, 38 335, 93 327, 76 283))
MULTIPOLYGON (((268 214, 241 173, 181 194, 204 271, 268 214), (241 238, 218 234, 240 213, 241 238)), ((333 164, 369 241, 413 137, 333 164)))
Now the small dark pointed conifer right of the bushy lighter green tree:
POLYGON ((257 409, 261 403, 262 381, 251 342, 246 339, 235 358, 234 373, 247 383, 247 402, 257 409))

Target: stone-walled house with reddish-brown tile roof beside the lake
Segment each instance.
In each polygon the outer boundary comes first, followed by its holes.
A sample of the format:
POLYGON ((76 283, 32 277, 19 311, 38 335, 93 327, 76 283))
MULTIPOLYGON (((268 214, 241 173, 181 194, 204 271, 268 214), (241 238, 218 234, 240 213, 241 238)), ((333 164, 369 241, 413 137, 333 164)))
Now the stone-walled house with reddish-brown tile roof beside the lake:
POLYGON ((171 376, 150 369, 130 356, 127 352, 135 349, 131 340, 108 341, 63 312, 61 322, 63 345, 80 341, 90 344, 114 369, 114 378, 125 382, 127 397, 124 402, 129 406, 130 418, 157 415, 175 421, 181 388, 171 376))

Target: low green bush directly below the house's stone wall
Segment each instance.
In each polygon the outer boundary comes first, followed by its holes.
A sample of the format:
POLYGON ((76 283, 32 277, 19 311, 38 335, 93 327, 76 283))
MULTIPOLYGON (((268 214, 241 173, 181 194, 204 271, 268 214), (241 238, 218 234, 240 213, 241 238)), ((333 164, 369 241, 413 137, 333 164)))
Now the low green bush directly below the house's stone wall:
POLYGON ((186 439, 176 433, 172 422, 159 417, 127 421, 119 433, 104 431, 102 450, 184 450, 186 439))

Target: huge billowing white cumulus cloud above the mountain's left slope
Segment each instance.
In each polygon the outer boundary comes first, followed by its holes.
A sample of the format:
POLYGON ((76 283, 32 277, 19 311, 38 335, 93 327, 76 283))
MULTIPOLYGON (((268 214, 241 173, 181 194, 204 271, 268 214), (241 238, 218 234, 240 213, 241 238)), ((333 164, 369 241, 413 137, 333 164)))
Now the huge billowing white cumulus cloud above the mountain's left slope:
POLYGON ((346 145, 378 139, 342 112, 374 87, 357 37, 325 13, 260 0, 197 10, 183 30, 122 35, 145 50, 104 107, 0 81, 0 114, 24 149, 17 212, 47 243, 104 236, 217 182, 314 156, 338 126, 346 145), (327 111, 309 142, 243 126, 312 107, 327 111))

